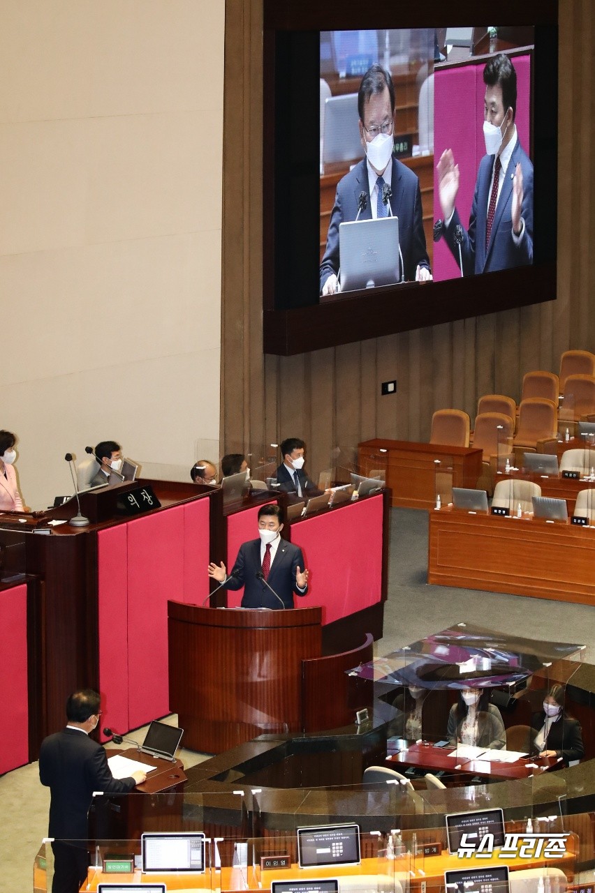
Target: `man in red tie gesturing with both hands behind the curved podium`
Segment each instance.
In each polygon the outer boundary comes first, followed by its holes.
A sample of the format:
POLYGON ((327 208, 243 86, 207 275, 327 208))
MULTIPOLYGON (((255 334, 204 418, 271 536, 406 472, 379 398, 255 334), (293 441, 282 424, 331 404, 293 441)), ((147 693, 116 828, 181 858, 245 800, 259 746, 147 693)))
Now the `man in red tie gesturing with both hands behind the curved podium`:
POLYGON ((244 587, 243 608, 292 608, 294 592, 305 596, 308 591, 310 572, 304 567, 304 555, 281 539, 281 521, 279 505, 263 505, 258 510, 258 539, 242 543, 230 576, 224 563, 209 564, 209 577, 225 588, 244 587))

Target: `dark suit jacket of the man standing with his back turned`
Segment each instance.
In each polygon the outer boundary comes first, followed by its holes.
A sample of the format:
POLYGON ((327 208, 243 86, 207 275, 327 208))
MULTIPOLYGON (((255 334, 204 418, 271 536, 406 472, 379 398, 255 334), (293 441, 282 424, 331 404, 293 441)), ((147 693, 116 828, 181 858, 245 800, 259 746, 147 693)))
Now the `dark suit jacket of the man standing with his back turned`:
POLYGON ((42 741, 39 779, 51 789, 48 836, 57 840, 88 838, 93 791, 125 794, 136 784, 133 778, 114 779, 104 748, 77 729, 63 729, 42 741))

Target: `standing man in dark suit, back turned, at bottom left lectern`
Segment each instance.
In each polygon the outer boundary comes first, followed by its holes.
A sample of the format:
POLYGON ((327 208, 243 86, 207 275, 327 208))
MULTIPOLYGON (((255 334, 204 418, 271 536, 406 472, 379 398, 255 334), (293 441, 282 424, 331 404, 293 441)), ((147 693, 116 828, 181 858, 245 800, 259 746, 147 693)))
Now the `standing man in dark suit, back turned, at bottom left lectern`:
POLYGON ((145 772, 113 778, 104 748, 88 737, 99 723, 99 703, 96 691, 75 691, 66 702, 66 728, 44 739, 39 751, 39 779, 51 793, 52 893, 78 893, 87 880, 87 816, 94 791, 127 794, 147 778, 145 772))

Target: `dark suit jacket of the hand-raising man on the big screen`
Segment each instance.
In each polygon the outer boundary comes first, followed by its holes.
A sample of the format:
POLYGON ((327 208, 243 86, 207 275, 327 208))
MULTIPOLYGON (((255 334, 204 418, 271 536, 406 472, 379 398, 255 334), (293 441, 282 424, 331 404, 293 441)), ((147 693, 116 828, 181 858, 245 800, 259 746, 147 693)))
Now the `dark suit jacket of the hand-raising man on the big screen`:
MULTIPOLYGON (((494 221, 491 225, 490 244, 485 248, 485 232, 490 204, 490 179, 494 167, 494 155, 484 155, 477 171, 475 193, 469 218, 469 229, 463 227, 461 255, 463 273, 487 273, 494 270, 508 270, 533 263, 533 165, 524 149, 516 141, 513 154, 508 162, 502 189, 496 205, 494 221), (512 236, 512 175, 516 163, 520 162, 523 171, 524 235, 519 245, 512 236)), ((460 224, 457 209, 445 230, 445 238, 455 260, 459 263, 458 246, 455 242, 455 228, 460 224)))

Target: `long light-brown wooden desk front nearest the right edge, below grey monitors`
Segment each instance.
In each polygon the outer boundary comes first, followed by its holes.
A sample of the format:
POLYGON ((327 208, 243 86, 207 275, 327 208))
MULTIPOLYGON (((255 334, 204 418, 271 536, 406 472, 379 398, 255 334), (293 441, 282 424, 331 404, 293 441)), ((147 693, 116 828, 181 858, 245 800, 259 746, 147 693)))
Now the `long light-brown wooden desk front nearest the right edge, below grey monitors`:
POLYGON ((430 513, 428 582, 595 605, 595 529, 440 510, 430 513))

